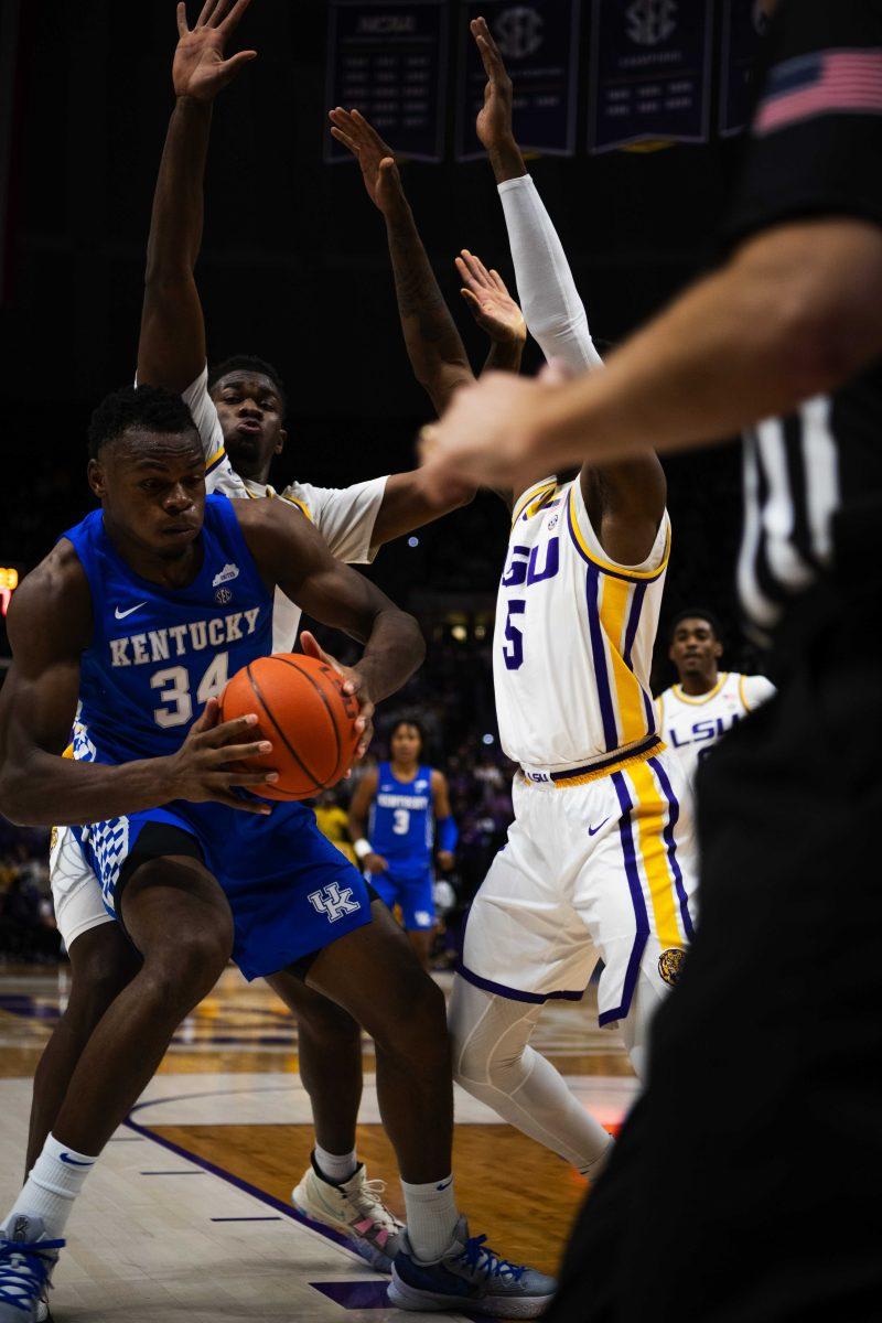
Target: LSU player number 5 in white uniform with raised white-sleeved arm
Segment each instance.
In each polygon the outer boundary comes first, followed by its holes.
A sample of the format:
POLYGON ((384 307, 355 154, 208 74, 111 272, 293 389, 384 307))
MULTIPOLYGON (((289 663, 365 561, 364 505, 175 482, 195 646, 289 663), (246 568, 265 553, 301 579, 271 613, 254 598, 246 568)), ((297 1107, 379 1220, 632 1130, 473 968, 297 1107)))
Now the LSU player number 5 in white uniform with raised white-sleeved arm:
MULTIPOLYGON (((477 120, 500 185, 528 328, 546 357, 600 368, 561 242, 512 135, 512 85, 487 24, 477 120)), ((602 1024, 641 1074, 647 1031, 693 934, 685 781, 649 693, 670 544, 652 451, 573 482, 513 475, 493 679, 514 823, 472 906, 450 1024, 459 1082, 582 1172, 603 1127, 529 1046, 549 999, 578 1000, 599 953, 602 1024)))

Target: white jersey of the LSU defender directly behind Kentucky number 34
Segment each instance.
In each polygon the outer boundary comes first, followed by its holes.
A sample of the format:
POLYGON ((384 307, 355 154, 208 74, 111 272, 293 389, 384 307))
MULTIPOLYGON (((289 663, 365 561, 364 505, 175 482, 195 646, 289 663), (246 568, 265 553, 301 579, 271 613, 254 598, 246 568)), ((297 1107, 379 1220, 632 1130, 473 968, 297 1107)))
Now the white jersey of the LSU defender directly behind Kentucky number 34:
MULTIPOLYGON (((372 541, 377 513, 386 491, 385 478, 373 478, 352 487, 313 487, 311 483, 291 483, 276 492, 268 483, 255 483, 239 478, 223 450, 223 431, 214 401, 208 392, 208 366, 182 393, 193 422, 198 429, 205 452, 206 487, 230 497, 278 497, 296 505, 311 520, 331 553, 348 565, 369 565, 380 550, 372 541)), ((280 587, 275 590, 272 607, 272 651, 291 652, 300 607, 280 587)))

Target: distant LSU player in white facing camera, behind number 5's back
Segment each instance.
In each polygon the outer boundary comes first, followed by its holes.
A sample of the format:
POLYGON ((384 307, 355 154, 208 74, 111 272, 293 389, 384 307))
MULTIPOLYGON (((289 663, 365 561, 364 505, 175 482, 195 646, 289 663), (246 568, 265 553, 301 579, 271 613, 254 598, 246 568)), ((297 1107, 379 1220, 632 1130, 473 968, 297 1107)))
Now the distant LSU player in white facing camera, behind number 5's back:
POLYGON ((710 611, 680 611, 670 624, 668 656, 678 683, 656 699, 659 730, 690 783, 702 758, 727 730, 767 703, 775 685, 764 675, 721 671, 721 630, 710 611))

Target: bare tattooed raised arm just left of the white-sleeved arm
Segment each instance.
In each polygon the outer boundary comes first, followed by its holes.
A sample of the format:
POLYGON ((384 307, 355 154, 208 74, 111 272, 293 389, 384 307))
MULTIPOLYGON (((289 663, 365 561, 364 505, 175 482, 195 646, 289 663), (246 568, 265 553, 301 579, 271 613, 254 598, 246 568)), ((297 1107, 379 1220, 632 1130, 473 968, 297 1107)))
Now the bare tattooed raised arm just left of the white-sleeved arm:
POLYGON ((386 221, 407 356, 442 414, 475 373, 419 237, 393 149, 357 110, 332 110, 331 124, 337 142, 357 159, 368 196, 386 221))

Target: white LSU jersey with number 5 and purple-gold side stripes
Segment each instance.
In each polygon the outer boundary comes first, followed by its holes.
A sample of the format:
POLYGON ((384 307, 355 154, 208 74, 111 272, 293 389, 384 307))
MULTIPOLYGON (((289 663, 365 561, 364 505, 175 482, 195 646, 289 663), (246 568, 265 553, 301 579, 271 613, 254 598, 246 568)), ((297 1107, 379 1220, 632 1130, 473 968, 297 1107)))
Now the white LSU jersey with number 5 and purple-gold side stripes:
POLYGON ((546 479, 516 503, 493 681, 502 749, 530 779, 657 740, 649 671, 669 546, 665 512, 641 565, 610 561, 579 479, 546 479))

